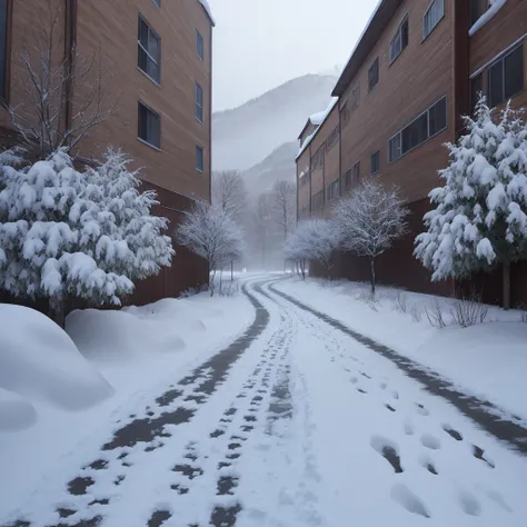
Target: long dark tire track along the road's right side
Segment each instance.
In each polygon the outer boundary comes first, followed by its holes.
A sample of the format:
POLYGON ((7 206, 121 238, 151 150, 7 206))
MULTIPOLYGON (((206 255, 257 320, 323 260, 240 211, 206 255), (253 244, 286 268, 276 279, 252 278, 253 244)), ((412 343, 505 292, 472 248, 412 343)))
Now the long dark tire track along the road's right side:
POLYGON ((527 455, 527 429, 506 418, 504 411, 498 409, 498 407, 487 400, 481 400, 476 396, 464 394, 458 390, 453 382, 432 370, 426 369, 408 357, 399 355, 388 346, 384 346, 376 340, 366 337, 335 318, 302 304, 290 295, 279 291, 276 289, 276 282, 281 280, 284 279, 275 280, 275 284, 269 285, 268 288, 272 294, 289 301, 297 308, 314 315, 330 327, 342 331, 356 341, 387 358, 408 377, 419 381, 428 392, 448 400, 460 410, 461 414, 469 417, 494 437, 508 443, 518 453, 527 455))

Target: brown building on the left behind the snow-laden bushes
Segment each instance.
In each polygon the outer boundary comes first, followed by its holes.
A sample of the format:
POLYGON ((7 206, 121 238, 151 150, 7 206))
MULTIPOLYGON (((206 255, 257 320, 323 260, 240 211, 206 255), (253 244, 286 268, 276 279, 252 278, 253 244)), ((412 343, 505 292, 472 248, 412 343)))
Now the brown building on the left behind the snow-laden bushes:
MULTIPOLYGON (((79 156, 98 159, 109 146, 127 152, 172 233, 196 198, 210 199, 212 27, 206 0, 0 0, 0 96, 12 107, 27 102, 22 53, 38 58, 51 34, 53 61, 91 60, 116 112, 81 141, 79 156)), ((87 80, 66 116, 97 86, 87 80)), ((16 142, 4 110, 0 127, 3 145, 16 142)), ((139 282, 131 301, 207 282, 207 265, 176 249, 172 267, 139 282)))

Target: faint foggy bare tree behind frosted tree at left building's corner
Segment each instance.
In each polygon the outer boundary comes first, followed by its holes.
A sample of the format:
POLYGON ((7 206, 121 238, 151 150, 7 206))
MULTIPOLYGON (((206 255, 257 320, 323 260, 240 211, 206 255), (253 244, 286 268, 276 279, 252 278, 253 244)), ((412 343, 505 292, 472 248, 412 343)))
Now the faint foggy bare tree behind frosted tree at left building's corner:
POLYGON ((212 203, 241 223, 247 212, 247 190, 237 170, 212 175, 212 203))

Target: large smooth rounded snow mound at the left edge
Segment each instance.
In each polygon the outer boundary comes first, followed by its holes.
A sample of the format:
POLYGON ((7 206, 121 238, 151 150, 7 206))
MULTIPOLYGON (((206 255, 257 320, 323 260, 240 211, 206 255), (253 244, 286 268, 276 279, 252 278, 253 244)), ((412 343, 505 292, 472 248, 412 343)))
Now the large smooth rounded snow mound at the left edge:
POLYGON ((89 408, 113 389, 49 318, 0 305, 0 387, 67 410, 89 408))

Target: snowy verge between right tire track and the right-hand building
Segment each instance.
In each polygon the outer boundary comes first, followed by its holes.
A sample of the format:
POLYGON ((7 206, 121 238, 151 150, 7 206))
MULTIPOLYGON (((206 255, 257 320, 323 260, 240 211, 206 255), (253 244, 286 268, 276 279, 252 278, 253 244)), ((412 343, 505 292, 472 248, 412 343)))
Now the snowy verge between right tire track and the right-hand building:
POLYGON ((370 302, 368 285, 346 280, 294 279, 277 288, 527 422, 526 314, 489 306, 486 324, 461 328, 450 324, 450 304, 440 298, 448 326, 439 329, 425 312, 435 305, 428 295, 380 288, 378 300, 370 302))

